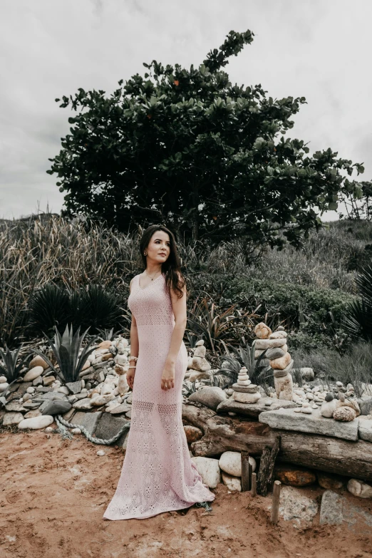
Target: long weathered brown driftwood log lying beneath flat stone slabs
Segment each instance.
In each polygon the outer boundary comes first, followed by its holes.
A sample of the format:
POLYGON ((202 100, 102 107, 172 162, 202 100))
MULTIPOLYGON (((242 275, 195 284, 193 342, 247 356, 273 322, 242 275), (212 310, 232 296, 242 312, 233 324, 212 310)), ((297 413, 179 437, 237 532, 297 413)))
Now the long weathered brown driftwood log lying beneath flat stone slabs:
POLYGON ((272 448, 280 435, 279 462, 372 481, 372 443, 364 440, 274 430, 257 421, 227 418, 206 407, 186 404, 182 405, 182 421, 204 434, 191 444, 194 455, 215 457, 224 451, 248 451, 259 456, 266 445, 272 448))

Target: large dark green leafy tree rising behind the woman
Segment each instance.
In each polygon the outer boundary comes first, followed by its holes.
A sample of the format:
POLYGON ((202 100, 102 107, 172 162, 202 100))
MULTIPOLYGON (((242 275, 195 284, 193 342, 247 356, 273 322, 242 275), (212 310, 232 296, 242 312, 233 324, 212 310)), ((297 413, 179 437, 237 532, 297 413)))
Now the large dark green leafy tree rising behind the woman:
POLYGON ((314 208, 336 209, 341 193, 358 197, 358 182, 341 171, 359 174, 361 164, 331 149, 306 156, 303 140, 284 138, 304 97, 274 100, 260 84, 230 83, 222 68, 253 36, 230 31, 190 70, 144 63, 144 76, 120 80, 110 98, 82 88, 63 96, 60 106, 77 114, 47 172, 66 192, 64 214, 121 230, 163 222, 179 238, 211 244, 300 246, 322 226, 314 208))

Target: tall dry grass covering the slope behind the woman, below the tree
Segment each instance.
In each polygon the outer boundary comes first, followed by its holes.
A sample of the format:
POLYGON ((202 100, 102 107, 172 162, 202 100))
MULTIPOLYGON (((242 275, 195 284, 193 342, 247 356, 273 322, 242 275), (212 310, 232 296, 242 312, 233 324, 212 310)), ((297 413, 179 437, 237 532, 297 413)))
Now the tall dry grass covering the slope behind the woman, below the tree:
MULTIPOLYGON (((355 272, 347 271, 348 258, 371 239, 371 223, 334 222, 329 230, 311 233, 301 250, 257 247, 250 253, 240 240, 222 242, 215 249, 178 245, 185 274, 202 270, 211 275, 267 276, 355 293, 355 272)), ((98 283, 128 294, 129 279, 142 271, 138 240, 137 234, 88 224, 83 217, 71 221, 44 215, 0 224, 1 345, 12 341, 16 346, 24 339, 29 296, 48 281, 72 289, 98 283)))

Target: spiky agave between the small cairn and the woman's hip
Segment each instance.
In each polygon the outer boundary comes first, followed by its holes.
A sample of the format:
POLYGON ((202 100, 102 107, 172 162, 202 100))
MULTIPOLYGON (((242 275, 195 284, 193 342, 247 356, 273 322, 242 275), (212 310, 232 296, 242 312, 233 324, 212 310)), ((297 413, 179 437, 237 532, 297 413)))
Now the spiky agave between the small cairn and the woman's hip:
POLYGON ((272 376, 272 367, 262 364, 262 359, 265 358, 267 349, 265 349, 257 359, 254 358, 255 350, 256 347, 254 342, 252 343, 252 347, 249 347, 249 343, 247 343, 246 348, 242 346, 235 348, 232 346, 232 351, 236 356, 225 355, 224 361, 229 363, 229 368, 220 368, 216 374, 224 374, 224 376, 227 376, 229 378, 228 386, 232 386, 233 383, 237 382, 240 368, 245 366, 252 383, 257 383, 264 387, 267 386, 267 378, 272 376))

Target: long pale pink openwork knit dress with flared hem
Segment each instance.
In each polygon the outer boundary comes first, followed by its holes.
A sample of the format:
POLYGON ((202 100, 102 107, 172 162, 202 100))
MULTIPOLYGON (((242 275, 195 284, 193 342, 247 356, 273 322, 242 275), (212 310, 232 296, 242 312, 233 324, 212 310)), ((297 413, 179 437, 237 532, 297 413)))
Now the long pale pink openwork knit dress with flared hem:
POLYGON ((175 326, 165 276, 141 289, 136 275, 128 307, 137 323, 139 351, 127 449, 118 486, 103 515, 107 520, 145 519, 215 500, 191 461, 182 424, 182 381, 187 369, 183 341, 175 361, 175 387, 161 388, 175 326))

